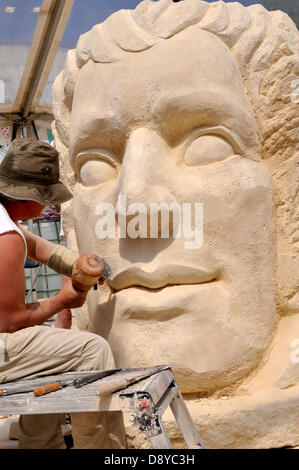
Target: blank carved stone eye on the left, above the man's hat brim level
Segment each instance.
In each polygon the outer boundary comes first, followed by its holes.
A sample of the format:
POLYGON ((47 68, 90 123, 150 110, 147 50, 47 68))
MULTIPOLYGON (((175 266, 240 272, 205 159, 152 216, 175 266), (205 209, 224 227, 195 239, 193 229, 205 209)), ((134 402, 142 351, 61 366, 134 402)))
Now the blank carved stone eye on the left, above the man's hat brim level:
POLYGON ((93 150, 80 152, 79 178, 84 186, 96 186, 107 183, 117 176, 117 169, 112 160, 93 150))

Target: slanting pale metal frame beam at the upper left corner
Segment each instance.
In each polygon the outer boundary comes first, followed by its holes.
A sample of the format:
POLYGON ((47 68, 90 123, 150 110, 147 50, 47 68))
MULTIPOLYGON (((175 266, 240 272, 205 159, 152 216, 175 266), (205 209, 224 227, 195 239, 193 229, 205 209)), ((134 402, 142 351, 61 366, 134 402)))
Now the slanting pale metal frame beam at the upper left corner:
POLYGON ((44 0, 15 102, 0 105, 0 116, 20 126, 53 120, 51 105, 39 103, 74 0, 44 0))

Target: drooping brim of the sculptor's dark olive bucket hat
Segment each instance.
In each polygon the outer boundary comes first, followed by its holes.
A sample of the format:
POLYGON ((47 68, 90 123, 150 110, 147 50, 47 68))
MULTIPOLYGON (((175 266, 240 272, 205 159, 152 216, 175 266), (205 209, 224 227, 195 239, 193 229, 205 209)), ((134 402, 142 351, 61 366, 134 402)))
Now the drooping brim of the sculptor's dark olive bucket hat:
POLYGON ((72 193, 59 182, 50 185, 8 181, 0 175, 0 193, 20 201, 34 201, 43 205, 62 204, 72 199, 72 193))

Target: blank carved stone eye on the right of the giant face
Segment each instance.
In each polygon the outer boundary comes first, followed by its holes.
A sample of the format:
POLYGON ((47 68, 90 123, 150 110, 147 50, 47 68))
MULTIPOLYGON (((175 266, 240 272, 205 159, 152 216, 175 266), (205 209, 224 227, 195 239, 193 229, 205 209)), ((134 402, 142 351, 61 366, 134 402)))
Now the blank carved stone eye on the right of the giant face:
POLYGON ((234 155, 232 145, 223 137, 205 134, 194 139, 185 151, 187 166, 207 165, 234 155))

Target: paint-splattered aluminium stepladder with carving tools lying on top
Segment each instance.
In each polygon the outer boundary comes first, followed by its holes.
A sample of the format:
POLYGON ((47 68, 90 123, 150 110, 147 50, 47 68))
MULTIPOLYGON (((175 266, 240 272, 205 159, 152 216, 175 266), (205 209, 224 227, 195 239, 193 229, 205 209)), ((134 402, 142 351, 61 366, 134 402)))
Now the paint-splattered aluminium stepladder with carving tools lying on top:
MULTIPOLYGON (((21 386, 39 387, 49 380, 77 377, 86 372, 68 372, 55 376, 39 377, 31 380, 19 380, 21 386)), ((134 377, 136 369, 126 369, 118 373, 123 377, 134 377)), ((102 381, 109 381, 106 377, 102 381)), ((16 382, 5 384, 9 389, 16 382)), ((76 413, 94 411, 121 410, 127 415, 131 424, 145 433, 153 449, 171 449, 171 442, 163 423, 163 414, 170 406, 178 427, 189 449, 203 449, 197 428, 184 402, 178 385, 170 368, 162 370, 145 380, 129 387, 100 397, 96 393, 97 382, 81 388, 65 387, 42 397, 35 397, 32 392, 18 393, 0 397, 0 414, 43 414, 43 413, 76 413)))

